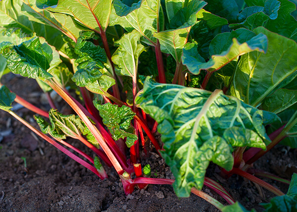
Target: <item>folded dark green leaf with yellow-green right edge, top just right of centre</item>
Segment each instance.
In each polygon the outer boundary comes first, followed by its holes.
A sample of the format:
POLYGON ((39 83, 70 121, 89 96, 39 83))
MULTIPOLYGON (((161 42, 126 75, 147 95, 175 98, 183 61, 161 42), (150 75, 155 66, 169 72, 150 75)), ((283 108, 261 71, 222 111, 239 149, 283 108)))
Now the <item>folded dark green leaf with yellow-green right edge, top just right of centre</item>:
POLYGON ((205 1, 192 0, 183 5, 183 7, 174 14, 170 20, 170 28, 187 28, 191 27, 197 22, 197 13, 203 6, 206 5, 205 1))

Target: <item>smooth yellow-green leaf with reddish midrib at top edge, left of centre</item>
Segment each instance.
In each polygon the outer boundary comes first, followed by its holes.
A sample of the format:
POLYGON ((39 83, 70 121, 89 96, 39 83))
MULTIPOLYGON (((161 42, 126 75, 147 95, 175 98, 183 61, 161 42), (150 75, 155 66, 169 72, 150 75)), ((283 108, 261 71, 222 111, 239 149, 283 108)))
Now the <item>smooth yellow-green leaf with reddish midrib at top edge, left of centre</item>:
POLYGON ((80 24, 98 33, 99 24, 103 30, 108 26, 111 4, 112 0, 37 0, 39 8, 65 14, 65 19, 71 16, 80 24))

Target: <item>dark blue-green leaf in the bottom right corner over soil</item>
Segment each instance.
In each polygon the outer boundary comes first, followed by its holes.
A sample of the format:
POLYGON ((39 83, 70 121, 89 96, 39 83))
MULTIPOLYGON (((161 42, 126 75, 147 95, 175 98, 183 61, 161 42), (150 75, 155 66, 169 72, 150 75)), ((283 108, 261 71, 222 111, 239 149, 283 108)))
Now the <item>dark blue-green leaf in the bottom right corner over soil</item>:
POLYGON ((297 211, 297 173, 291 179, 287 195, 274 197, 270 203, 261 204, 265 212, 296 212, 297 211))

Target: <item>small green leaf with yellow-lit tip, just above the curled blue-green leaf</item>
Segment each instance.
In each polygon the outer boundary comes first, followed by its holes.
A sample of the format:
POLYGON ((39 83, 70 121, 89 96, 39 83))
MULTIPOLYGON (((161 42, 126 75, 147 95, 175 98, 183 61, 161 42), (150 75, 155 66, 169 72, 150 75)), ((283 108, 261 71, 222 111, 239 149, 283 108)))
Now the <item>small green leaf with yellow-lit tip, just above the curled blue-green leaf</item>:
POLYGON ((211 30, 228 24, 228 21, 225 18, 212 14, 205 9, 200 9, 198 11, 197 18, 198 20, 206 21, 207 27, 211 30))

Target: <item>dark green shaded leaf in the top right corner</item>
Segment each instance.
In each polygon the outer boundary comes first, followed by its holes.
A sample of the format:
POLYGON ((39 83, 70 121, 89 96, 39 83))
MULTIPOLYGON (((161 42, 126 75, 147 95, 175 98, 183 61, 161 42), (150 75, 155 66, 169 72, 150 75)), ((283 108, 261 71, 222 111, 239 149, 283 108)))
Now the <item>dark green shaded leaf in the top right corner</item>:
POLYGON ((291 15, 296 10, 296 5, 289 0, 278 1, 281 2, 278 16, 269 20, 265 28, 297 42, 297 20, 291 15))

